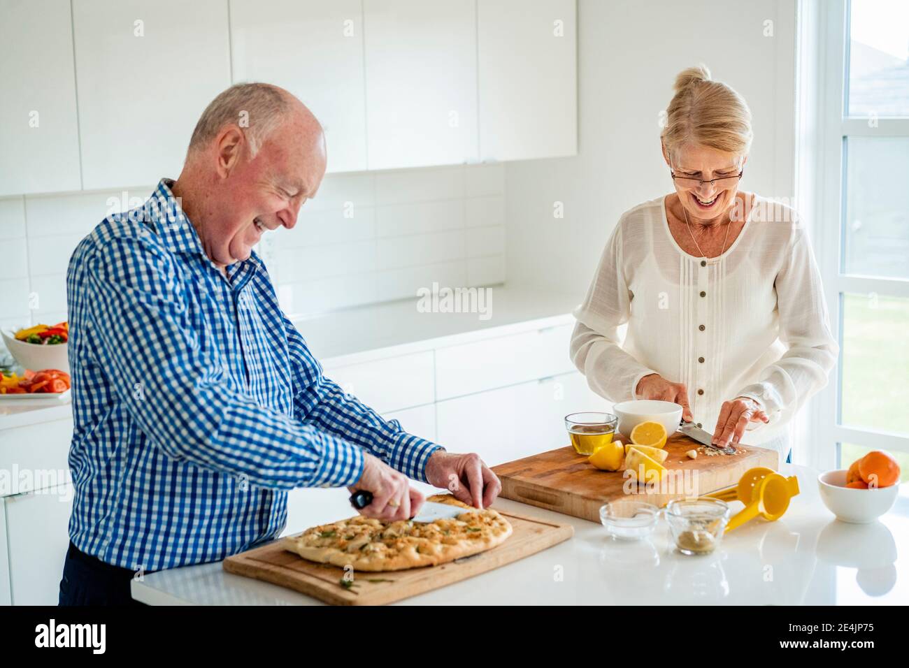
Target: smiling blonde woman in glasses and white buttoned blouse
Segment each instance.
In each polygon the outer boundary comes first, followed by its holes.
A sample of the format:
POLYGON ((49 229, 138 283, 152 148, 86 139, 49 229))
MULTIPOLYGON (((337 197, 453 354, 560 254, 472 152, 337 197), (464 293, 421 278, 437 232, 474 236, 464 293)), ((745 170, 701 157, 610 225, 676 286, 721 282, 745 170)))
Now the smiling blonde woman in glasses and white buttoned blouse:
POLYGON ((811 245, 792 209, 739 190, 753 136, 741 95, 692 67, 666 113, 674 192, 619 219, 574 312, 574 364, 606 399, 681 404, 715 444, 748 430, 788 461, 786 424, 838 353, 811 245))

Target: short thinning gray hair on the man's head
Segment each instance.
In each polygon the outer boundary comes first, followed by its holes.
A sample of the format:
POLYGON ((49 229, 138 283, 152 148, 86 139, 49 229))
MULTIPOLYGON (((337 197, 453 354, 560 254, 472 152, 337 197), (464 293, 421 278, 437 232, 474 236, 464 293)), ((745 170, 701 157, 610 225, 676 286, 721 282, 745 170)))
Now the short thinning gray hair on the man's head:
POLYGON ((211 142, 225 125, 237 125, 255 157, 265 139, 280 125, 291 105, 280 88, 270 84, 235 84, 205 107, 189 140, 189 153, 211 142))

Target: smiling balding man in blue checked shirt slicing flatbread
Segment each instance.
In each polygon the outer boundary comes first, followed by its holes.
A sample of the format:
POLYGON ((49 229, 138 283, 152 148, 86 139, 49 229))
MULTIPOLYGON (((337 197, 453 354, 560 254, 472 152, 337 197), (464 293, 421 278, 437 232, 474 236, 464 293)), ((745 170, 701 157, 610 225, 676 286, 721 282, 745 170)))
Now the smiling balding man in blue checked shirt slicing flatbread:
MULTIPOLYGON (((141 159, 141 156, 140 156, 141 159)), ((183 172, 109 216, 69 264, 75 484, 60 603, 130 603, 149 573, 275 538, 287 490, 363 489, 412 517, 407 478, 492 503, 476 454, 407 434, 325 378, 253 252, 294 227, 325 137, 293 95, 235 85, 208 105, 183 172)))

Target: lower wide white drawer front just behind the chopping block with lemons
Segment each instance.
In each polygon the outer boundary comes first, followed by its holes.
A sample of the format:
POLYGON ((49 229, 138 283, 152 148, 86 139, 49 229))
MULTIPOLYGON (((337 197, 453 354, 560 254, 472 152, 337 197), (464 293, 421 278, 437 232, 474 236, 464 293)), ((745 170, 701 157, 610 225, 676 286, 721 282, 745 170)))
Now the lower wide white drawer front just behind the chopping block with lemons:
POLYGON ((560 374, 439 402, 436 435, 447 450, 494 466, 567 445, 565 415, 609 407, 583 375, 560 374))

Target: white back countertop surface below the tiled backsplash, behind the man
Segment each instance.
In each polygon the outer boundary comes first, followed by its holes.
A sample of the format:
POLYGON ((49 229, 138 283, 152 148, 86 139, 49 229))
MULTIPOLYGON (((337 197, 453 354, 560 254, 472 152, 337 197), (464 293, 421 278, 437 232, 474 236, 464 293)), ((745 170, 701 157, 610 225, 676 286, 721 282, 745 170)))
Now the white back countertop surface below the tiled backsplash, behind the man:
MULTIPOLYGON (((577 295, 547 293, 494 285, 490 317, 475 313, 420 313, 416 299, 372 304, 295 320, 306 344, 325 365, 357 364, 371 359, 415 353, 490 335, 511 334, 527 327, 573 322, 577 295)), ((0 400, 0 430, 70 417, 66 400, 0 400)))

